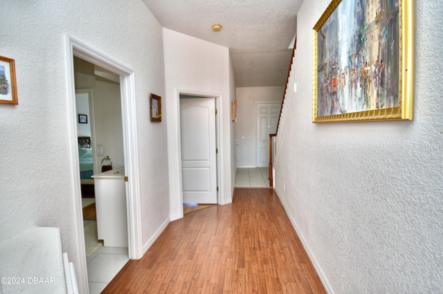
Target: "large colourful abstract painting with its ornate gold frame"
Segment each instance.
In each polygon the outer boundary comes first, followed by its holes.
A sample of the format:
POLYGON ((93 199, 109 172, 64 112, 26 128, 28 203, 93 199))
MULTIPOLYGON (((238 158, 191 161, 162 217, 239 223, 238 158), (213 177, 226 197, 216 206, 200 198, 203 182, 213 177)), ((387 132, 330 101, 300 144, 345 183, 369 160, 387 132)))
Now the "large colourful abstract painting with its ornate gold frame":
POLYGON ((413 0, 333 0, 314 26, 313 122, 413 119, 413 0))

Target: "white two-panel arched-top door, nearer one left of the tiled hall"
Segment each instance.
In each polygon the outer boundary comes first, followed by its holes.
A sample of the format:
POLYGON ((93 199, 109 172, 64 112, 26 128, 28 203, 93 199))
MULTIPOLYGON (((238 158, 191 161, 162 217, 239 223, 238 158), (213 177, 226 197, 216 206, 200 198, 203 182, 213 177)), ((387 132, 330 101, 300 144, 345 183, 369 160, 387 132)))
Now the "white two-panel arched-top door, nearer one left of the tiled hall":
POLYGON ((215 98, 180 98, 183 203, 217 203, 215 98))

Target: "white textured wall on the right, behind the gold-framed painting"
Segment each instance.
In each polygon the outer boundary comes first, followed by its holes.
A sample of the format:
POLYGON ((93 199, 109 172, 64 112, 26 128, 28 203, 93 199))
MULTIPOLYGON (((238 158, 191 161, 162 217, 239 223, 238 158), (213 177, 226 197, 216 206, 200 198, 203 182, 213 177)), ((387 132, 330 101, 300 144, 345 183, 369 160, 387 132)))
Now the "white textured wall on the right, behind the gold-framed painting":
POLYGON ((318 125, 312 28, 328 4, 298 12, 276 190, 330 293, 443 293, 443 8, 415 1, 413 121, 318 125))

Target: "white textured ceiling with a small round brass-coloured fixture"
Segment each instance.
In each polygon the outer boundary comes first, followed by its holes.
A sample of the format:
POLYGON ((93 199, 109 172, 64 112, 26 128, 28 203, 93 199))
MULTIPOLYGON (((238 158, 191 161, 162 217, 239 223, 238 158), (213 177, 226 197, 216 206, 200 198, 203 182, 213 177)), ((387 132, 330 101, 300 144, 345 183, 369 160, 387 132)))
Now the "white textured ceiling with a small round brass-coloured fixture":
POLYGON ((284 86, 303 0, 143 0, 161 26, 229 48, 235 84, 284 86), (213 32, 213 24, 222 26, 213 32))

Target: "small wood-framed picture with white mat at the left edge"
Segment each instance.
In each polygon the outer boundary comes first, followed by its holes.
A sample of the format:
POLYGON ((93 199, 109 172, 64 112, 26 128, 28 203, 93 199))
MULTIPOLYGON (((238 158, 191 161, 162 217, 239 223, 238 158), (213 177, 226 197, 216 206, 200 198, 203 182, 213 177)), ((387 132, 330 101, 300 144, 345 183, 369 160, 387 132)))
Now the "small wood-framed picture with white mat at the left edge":
POLYGON ((0 56, 0 103, 19 104, 15 81, 15 61, 3 56, 0 56))

